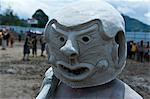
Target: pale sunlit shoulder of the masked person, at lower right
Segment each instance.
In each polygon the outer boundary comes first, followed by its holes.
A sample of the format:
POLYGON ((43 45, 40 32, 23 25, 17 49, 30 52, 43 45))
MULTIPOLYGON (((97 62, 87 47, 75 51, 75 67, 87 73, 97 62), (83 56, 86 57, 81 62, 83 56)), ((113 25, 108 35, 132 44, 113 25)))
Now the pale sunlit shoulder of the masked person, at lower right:
POLYGON ((137 92, 135 92, 131 87, 125 84, 125 97, 124 99, 143 99, 137 92))

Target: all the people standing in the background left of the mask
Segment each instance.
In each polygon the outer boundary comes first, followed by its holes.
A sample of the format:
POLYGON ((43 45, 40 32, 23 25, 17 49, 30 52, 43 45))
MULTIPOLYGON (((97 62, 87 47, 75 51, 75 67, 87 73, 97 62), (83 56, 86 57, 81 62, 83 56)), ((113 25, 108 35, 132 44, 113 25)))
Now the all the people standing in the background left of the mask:
MULTIPOLYGON (((17 34, 17 33, 16 33, 17 34)), ((7 28, 0 29, 0 45, 1 50, 7 50, 7 48, 13 48, 15 40, 18 39, 19 42, 22 41, 22 36, 20 34, 16 35, 13 31, 7 28)), ((41 49, 41 57, 44 56, 45 51, 45 39, 42 34, 38 35, 36 33, 32 33, 28 31, 25 33, 25 40, 23 41, 23 60, 29 61, 29 55, 31 54, 30 50, 32 50, 32 56, 37 56, 37 48, 41 49), (38 42, 40 46, 38 46, 38 42)))

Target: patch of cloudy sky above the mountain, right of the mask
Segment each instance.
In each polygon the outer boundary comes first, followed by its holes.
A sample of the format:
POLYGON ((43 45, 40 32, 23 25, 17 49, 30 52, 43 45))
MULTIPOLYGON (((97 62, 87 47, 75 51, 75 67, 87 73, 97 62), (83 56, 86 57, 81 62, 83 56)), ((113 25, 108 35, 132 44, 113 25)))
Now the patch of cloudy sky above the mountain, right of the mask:
POLYGON ((148 17, 144 14, 150 12, 150 0, 105 0, 112 4, 119 12, 136 18, 150 25, 148 17))

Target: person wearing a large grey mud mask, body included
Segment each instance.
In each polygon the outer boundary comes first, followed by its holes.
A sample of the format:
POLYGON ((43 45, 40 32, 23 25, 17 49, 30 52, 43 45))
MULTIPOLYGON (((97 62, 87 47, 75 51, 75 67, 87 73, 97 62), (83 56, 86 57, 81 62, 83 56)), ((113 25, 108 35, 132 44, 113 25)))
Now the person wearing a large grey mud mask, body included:
POLYGON ((81 0, 52 16, 45 27, 52 68, 36 99, 142 99, 116 78, 126 63, 118 11, 104 1, 81 0))

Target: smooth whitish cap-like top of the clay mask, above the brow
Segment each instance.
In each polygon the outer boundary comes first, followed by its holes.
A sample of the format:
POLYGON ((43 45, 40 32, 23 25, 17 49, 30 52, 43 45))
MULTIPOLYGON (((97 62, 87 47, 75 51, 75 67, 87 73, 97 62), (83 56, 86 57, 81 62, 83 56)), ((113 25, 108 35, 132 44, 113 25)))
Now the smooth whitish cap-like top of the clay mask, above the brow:
POLYGON ((99 19, 108 37, 114 37, 120 30, 124 31, 124 20, 120 13, 102 0, 73 2, 55 12, 51 18, 65 26, 76 26, 99 19))

